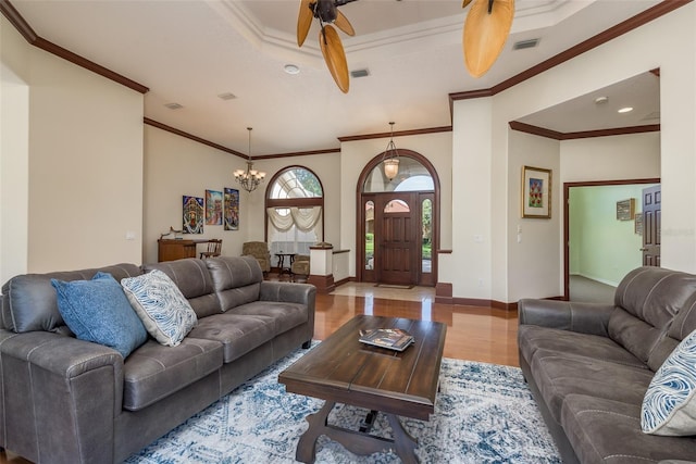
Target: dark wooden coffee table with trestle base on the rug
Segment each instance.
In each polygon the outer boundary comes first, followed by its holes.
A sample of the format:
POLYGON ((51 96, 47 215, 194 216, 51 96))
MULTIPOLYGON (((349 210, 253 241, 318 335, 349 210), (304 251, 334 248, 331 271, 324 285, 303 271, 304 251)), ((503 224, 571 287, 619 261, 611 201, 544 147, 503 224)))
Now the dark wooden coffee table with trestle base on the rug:
POLYGON ((308 352, 278 376, 287 391, 325 400, 307 416, 296 459, 313 463, 316 439, 325 435, 356 454, 394 450, 403 463, 415 463, 417 440, 397 416, 428 421, 435 412, 439 366, 447 326, 442 323, 359 315, 308 352), (360 343, 361 329, 399 327, 415 342, 402 352, 360 343), (327 422, 336 403, 370 410, 359 430, 327 422), (394 439, 370 434, 377 413, 391 426, 394 439))

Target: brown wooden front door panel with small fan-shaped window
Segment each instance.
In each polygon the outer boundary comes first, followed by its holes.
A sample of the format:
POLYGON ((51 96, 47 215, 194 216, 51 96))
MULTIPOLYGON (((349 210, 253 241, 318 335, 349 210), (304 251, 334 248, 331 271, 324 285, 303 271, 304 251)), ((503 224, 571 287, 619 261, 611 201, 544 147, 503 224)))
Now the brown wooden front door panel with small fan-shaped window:
POLYGON ((418 195, 387 193, 376 198, 377 281, 391 285, 415 285, 420 260, 418 195))

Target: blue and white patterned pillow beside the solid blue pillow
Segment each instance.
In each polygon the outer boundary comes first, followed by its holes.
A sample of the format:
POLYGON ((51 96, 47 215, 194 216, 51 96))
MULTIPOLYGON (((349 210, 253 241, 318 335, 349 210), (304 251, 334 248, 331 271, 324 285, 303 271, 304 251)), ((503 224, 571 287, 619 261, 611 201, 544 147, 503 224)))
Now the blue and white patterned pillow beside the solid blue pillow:
POLYGON ((162 271, 124 278, 121 285, 145 328, 162 344, 176 347, 198 323, 186 297, 162 271))

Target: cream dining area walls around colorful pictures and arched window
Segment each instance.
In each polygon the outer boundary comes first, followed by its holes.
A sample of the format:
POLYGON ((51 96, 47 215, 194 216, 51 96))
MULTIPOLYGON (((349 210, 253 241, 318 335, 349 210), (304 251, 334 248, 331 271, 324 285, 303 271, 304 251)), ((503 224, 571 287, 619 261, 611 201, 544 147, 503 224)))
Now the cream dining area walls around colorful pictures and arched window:
POLYGON ((278 158, 256 161, 253 167, 266 173, 266 180, 252 192, 241 189, 232 173, 246 168, 239 156, 198 143, 172 133, 146 126, 145 129, 145 243, 144 262, 157 262, 157 240, 170 226, 182 228, 182 197, 204 197, 206 189, 239 190, 239 230, 203 225, 203 234, 191 239, 221 238, 222 254, 241 254, 245 241, 264 241, 264 199, 271 178, 288 166, 304 166, 319 177, 324 188, 324 241, 337 243, 340 237, 340 171, 338 153, 278 158))

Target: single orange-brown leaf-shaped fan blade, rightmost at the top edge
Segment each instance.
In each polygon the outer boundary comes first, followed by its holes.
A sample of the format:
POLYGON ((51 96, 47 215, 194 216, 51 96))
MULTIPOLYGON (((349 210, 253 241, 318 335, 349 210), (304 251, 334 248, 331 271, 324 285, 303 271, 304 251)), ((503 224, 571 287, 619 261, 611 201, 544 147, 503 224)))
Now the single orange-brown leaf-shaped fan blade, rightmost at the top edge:
POLYGON ((502 51, 514 17, 514 0, 475 0, 464 22, 464 63, 469 74, 481 77, 502 51))

